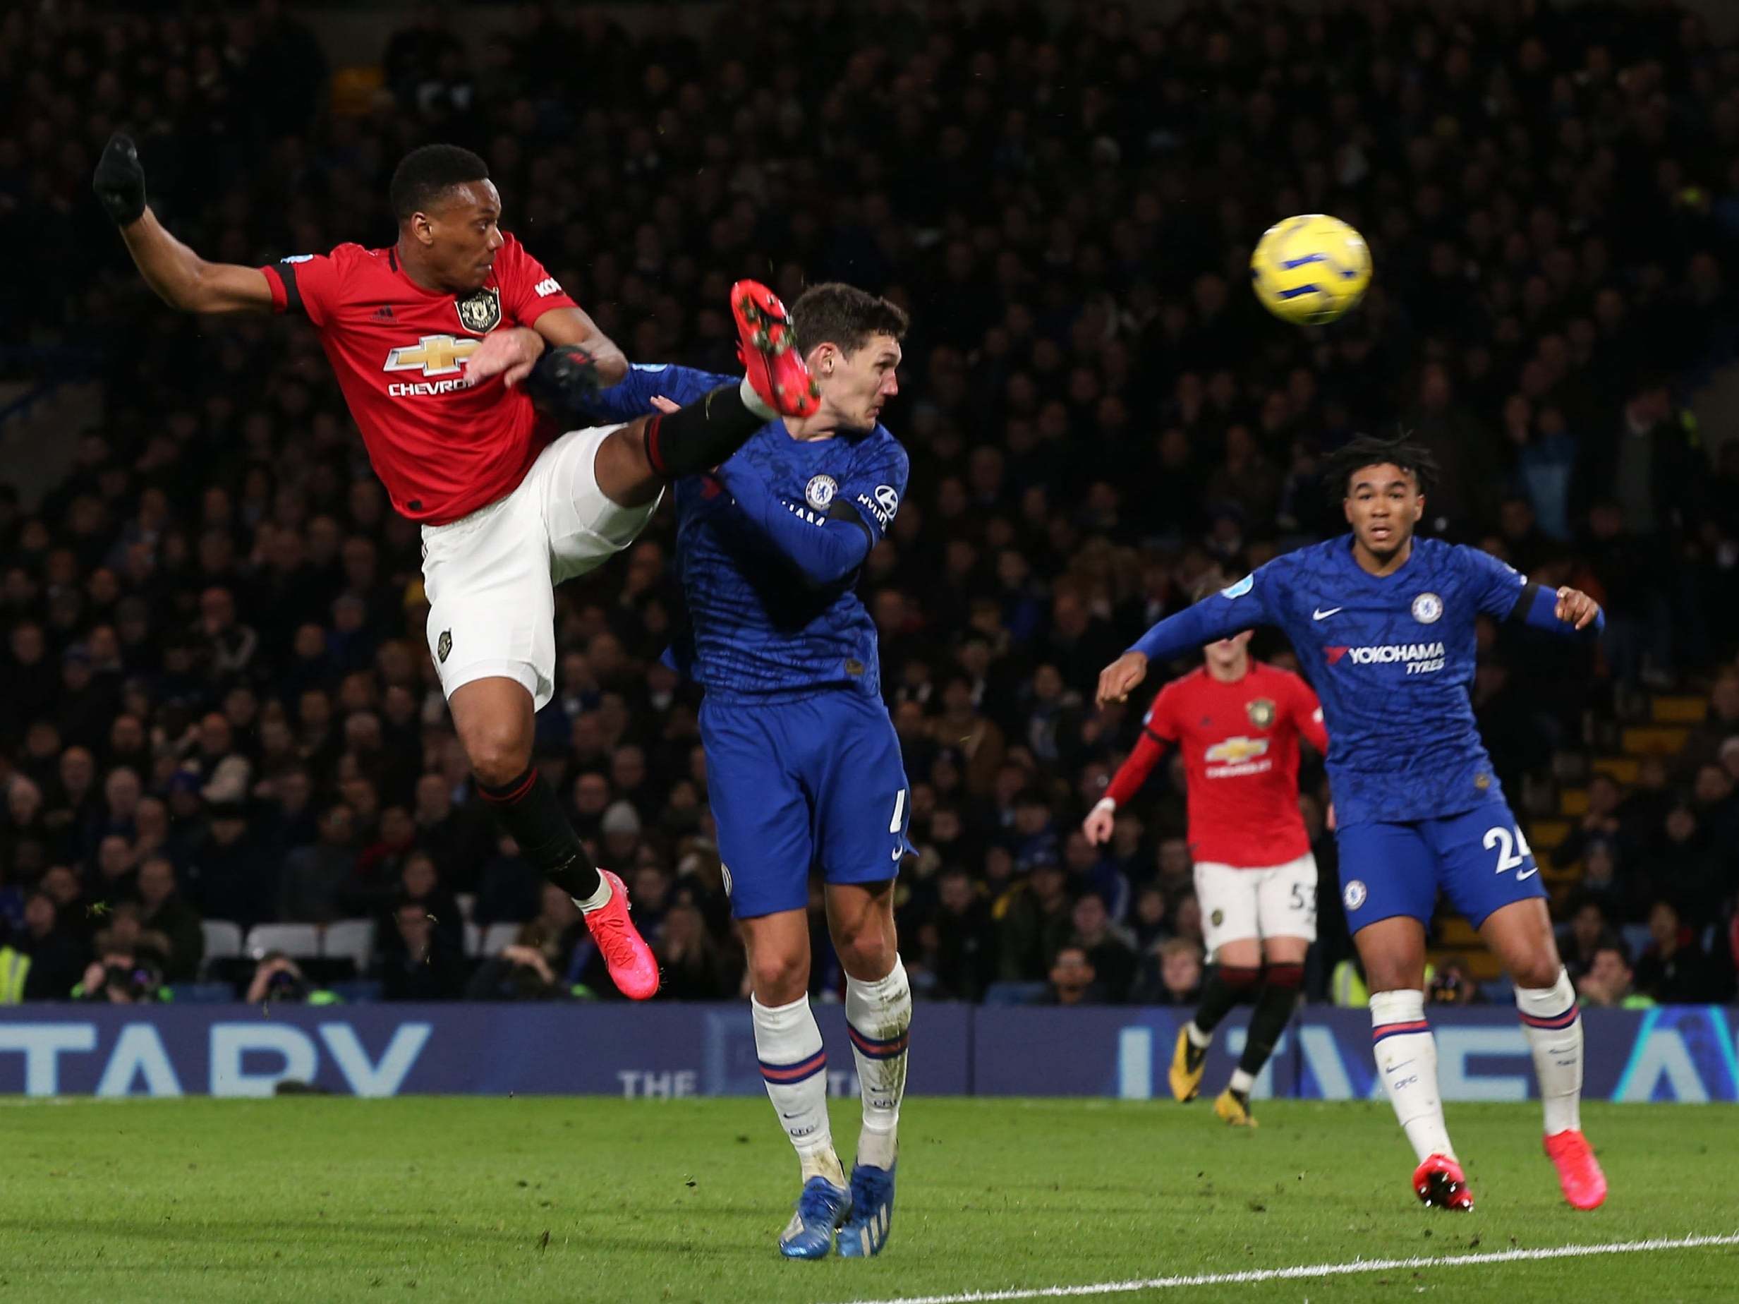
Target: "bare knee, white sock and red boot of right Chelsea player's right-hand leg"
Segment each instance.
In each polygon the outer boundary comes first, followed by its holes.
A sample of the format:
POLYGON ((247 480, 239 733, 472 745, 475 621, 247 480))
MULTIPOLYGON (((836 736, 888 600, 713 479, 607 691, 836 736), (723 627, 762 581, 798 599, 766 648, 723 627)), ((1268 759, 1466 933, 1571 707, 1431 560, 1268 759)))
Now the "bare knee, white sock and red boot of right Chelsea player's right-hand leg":
POLYGON ((1607 1198, 1607 1177, 1582 1135, 1582 1017, 1558 958, 1546 902, 1501 906, 1480 925, 1480 935, 1516 988, 1516 1014, 1534 1052, 1546 1111, 1546 1154, 1558 1170, 1563 1198, 1576 1208, 1598 1208, 1607 1198))

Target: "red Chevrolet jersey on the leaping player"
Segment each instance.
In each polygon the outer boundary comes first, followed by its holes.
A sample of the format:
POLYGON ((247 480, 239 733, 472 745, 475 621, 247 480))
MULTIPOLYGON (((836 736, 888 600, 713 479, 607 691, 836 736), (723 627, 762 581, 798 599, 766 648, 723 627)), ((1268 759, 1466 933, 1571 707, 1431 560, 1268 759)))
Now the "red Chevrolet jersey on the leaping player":
POLYGON ((273 306, 320 332, 350 414, 393 506, 440 525, 510 494, 550 429, 518 389, 464 386, 464 360, 497 327, 574 308, 511 235, 471 294, 426 290, 391 249, 339 245, 268 268, 273 306))

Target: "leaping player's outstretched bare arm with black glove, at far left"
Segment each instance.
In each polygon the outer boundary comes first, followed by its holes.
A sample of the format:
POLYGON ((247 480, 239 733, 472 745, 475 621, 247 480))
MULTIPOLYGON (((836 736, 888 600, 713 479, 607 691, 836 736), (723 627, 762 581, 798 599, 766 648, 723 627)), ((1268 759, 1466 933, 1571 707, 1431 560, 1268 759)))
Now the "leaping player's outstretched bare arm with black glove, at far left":
POLYGON ((144 167, 130 137, 120 132, 110 137, 90 186, 120 228, 144 283, 170 308, 184 313, 271 311, 266 273, 235 263, 207 263, 163 230, 144 203, 144 167))

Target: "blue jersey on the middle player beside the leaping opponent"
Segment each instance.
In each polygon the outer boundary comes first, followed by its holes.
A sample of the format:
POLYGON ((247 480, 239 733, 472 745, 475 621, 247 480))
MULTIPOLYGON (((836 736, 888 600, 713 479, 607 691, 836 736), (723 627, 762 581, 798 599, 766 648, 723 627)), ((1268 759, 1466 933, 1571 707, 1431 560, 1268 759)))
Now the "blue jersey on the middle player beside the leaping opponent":
MULTIPOLYGON (((598 417, 628 421, 654 412, 654 396, 692 403, 737 384, 739 377, 636 363, 588 407, 598 417)), ((830 511, 836 516, 836 504, 849 504, 871 546, 906 492, 906 450, 883 426, 795 440, 783 421, 770 421, 729 466, 753 473, 784 511, 817 530, 830 511)), ((670 652, 676 669, 715 699, 802 697, 828 689, 880 695, 876 629, 857 598, 856 567, 830 582, 803 577, 713 476, 678 480, 675 501, 676 567, 692 629, 670 652)))

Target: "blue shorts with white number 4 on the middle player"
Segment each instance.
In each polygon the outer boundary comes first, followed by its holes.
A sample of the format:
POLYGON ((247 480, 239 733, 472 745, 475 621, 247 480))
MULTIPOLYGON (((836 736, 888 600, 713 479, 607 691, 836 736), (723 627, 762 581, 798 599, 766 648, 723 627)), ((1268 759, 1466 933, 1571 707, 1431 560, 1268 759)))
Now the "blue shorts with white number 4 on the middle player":
POLYGON ((730 911, 809 908, 809 875, 880 883, 911 854, 911 791, 880 697, 701 701, 706 788, 730 911))

